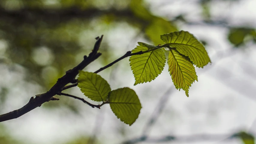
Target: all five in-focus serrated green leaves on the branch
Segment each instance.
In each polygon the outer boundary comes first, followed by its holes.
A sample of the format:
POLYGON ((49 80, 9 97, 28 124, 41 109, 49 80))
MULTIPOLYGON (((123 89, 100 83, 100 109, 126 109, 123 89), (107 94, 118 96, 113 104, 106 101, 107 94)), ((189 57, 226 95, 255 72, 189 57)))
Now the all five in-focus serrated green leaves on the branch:
MULTIPOLYGON (((177 89, 183 89, 188 97, 188 89, 197 80, 195 64, 203 67, 210 58, 203 45, 189 32, 172 32, 161 35, 164 45, 153 46, 138 42, 130 57, 130 66, 135 77, 134 85, 154 80, 164 69, 166 57, 161 49, 169 49, 168 65, 173 83, 177 89)), ((140 100, 134 90, 119 88, 111 91, 105 79, 96 73, 80 71, 78 87, 90 99, 110 104, 118 119, 132 125, 140 114, 140 100)), ((102 105, 103 105, 102 104, 102 105)))

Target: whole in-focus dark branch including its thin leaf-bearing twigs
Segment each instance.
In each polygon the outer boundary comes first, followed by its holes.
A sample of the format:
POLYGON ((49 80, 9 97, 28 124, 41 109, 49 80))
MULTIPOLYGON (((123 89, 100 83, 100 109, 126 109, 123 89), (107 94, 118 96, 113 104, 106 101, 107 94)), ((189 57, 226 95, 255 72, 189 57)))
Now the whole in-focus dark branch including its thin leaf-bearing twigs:
MULTIPOLYGON (((61 91, 65 90, 65 89, 77 86, 77 83, 75 83, 76 82, 75 77, 79 73, 79 70, 83 70, 88 64, 90 64, 92 61, 94 61, 95 59, 97 59, 101 55, 101 53, 99 53, 98 50, 99 50, 99 47, 101 45, 102 38, 103 38, 103 35, 101 36, 101 38, 97 37, 96 38, 97 41, 95 42, 94 48, 92 49, 92 52, 89 54, 89 56, 87 57, 85 55, 84 60, 80 64, 78 64, 73 69, 66 71, 66 74, 64 76, 62 76, 61 78, 59 78, 57 80, 56 84, 53 85, 53 87, 50 88, 49 91, 47 91, 44 94, 36 95, 36 98, 31 97, 30 100, 29 100, 29 103, 26 104, 24 107, 18 109, 18 110, 14 110, 12 112, 0 115, 0 122, 4 122, 4 121, 10 120, 10 119, 16 119, 16 118, 24 115, 25 113, 28 113, 29 111, 31 111, 31 110, 33 110, 37 107, 40 107, 45 102, 48 102, 48 101, 51 101, 51 100, 57 100, 57 99, 52 98, 52 97, 54 95, 60 95, 61 91), (67 85, 68 83, 73 83, 73 84, 67 85), (67 85, 67 86, 65 86, 65 85, 67 85)), ((165 46, 168 46, 168 44, 164 44, 164 45, 161 45, 161 46, 155 46, 155 48, 148 49, 146 51, 135 52, 135 53, 131 53, 131 51, 128 51, 122 57, 116 59, 115 61, 111 62, 110 64, 106 65, 105 67, 101 67, 99 70, 95 71, 94 73, 98 73, 98 72, 112 66, 113 64, 117 63, 118 61, 120 61, 120 60, 122 60, 122 59, 124 59, 128 56, 141 55, 143 53, 151 52, 153 50, 156 50, 156 49, 159 49, 159 48, 162 48, 162 47, 165 47, 165 46)), ((66 96, 67 95, 68 94, 66 94, 66 96)), ((71 95, 69 95, 69 96, 79 99, 78 97, 75 97, 75 96, 71 96, 71 95)), ((82 101, 85 102, 85 100, 82 100, 82 101)), ((87 102, 86 104, 89 104, 89 103, 87 102)), ((105 104, 105 103, 103 103, 103 104, 105 104)), ((89 105, 91 107, 98 107, 99 108, 103 104, 101 104, 99 106, 92 105, 92 104, 89 104, 89 105)))

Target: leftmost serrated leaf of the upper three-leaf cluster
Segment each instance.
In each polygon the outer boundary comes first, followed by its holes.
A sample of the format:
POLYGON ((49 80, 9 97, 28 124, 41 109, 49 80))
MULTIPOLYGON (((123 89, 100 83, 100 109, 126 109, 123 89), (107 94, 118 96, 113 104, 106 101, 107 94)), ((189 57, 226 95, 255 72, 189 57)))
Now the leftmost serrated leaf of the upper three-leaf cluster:
MULTIPOLYGON (((145 46, 137 46, 131 52, 148 50, 145 46)), ((156 49, 141 55, 132 55, 129 59, 131 70, 135 77, 134 85, 154 80, 162 72, 165 65, 165 54, 163 50, 156 49)))

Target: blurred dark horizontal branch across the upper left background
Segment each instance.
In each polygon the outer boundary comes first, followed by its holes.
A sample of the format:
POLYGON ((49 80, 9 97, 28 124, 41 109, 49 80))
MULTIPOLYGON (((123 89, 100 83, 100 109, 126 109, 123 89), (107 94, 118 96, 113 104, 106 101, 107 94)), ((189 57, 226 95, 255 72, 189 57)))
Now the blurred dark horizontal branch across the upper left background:
POLYGON ((16 25, 29 23, 35 25, 38 21, 44 21, 52 25, 58 25, 61 22, 67 22, 72 19, 91 19, 93 17, 111 14, 119 19, 129 18, 136 22, 149 22, 135 16, 130 9, 116 10, 115 8, 100 10, 97 8, 80 9, 78 7, 69 7, 62 9, 47 9, 47 8, 29 8, 24 7, 19 10, 6 10, 0 7, 0 18, 12 20, 16 25))

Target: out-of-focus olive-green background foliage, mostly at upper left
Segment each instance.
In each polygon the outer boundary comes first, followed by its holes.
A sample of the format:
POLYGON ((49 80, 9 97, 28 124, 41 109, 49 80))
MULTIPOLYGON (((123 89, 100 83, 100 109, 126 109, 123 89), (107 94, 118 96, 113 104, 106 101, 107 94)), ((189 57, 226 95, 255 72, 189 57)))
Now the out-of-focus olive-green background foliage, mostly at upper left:
MULTIPOLYGON (((231 4, 239 0, 219 1, 231 4)), ((128 25, 135 29, 137 37, 142 36, 155 45, 163 44, 160 35, 181 30, 181 25, 202 23, 226 27, 226 40, 234 48, 256 43, 255 27, 230 26, 225 18, 212 17, 212 2, 197 0, 201 18, 193 22, 187 16, 189 11, 165 16, 154 14, 155 10, 150 8, 149 2, 143 0, 1 0, 0 62, 9 65, 9 71, 22 67, 26 71, 26 81, 38 84, 42 91, 47 91, 65 71, 73 68, 83 59, 83 55, 91 51, 95 37, 111 32, 117 26, 128 25)), ((161 9, 161 6, 155 8, 161 9)), ((205 45, 209 43, 204 39, 201 41, 205 45)), ((109 45, 106 41, 101 44, 103 55, 98 60, 98 68, 115 59, 109 45)), ((133 47, 122 49, 122 53, 131 49, 133 47)), ((0 88, 1 113, 9 91, 5 86, 0 88)), ((44 107, 68 107, 79 113, 80 109, 74 101, 62 97, 61 101, 46 103, 44 107)), ((1 144, 18 144, 4 128, 0 128, 1 144)), ((84 144, 88 139, 86 136, 67 144, 84 144)))

